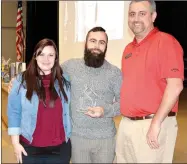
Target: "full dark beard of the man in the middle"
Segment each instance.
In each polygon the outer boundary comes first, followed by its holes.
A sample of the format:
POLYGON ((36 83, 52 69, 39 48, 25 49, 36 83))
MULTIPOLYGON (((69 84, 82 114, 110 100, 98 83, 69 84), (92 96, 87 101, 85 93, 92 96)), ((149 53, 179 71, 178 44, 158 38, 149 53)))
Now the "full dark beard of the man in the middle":
POLYGON ((105 60, 106 51, 102 52, 99 49, 88 49, 84 50, 84 61, 89 67, 98 68, 101 67, 105 60), (93 50, 99 51, 99 53, 92 52, 93 50))

